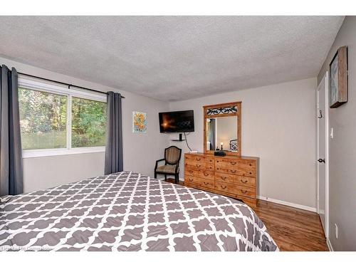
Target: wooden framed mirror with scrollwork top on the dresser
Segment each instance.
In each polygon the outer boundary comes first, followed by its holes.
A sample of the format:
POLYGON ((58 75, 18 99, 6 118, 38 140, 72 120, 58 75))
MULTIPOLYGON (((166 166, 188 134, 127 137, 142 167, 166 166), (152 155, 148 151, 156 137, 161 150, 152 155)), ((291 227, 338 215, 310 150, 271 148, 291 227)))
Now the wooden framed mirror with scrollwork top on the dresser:
POLYGON ((205 105, 204 153, 241 156, 241 101, 205 105))

